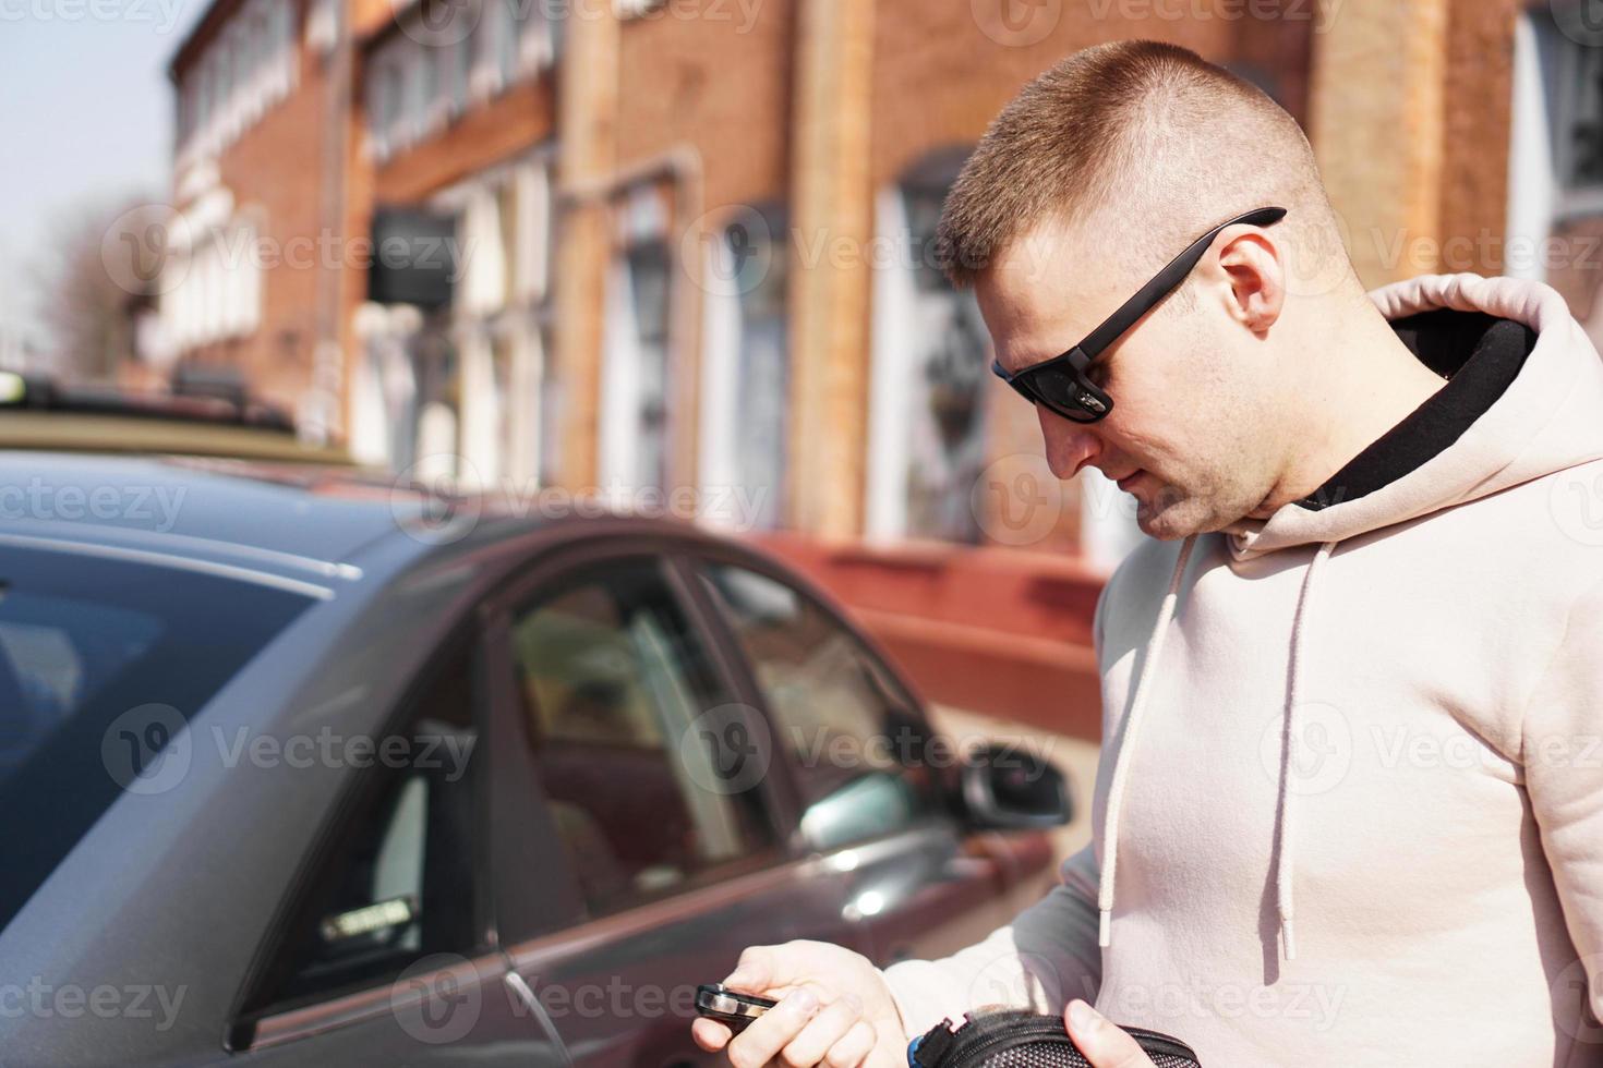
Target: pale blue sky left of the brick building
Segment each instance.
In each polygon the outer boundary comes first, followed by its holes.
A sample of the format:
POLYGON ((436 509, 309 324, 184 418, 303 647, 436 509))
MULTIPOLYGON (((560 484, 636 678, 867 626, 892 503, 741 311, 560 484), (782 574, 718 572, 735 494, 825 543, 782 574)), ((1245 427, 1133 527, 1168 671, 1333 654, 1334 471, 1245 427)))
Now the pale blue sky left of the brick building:
POLYGON ((0 325, 37 336, 53 221, 87 203, 165 200, 167 61, 205 0, 0 0, 0 325))

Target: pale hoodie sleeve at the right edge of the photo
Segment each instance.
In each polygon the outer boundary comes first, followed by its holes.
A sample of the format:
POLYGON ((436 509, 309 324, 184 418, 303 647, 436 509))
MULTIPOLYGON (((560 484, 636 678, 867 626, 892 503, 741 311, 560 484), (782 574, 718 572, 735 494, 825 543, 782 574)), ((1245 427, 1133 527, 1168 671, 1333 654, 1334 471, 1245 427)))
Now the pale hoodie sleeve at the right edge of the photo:
MULTIPOLYGON (((1566 975, 1603 1018, 1603 583, 1571 608, 1563 640, 1526 705, 1521 762, 1565 925, 1566 975), (1582 974, 1584 970, 1584 974, 1582 974)), ((1576 1006, 1579 1009, 1579 1006, 1576 1006)))

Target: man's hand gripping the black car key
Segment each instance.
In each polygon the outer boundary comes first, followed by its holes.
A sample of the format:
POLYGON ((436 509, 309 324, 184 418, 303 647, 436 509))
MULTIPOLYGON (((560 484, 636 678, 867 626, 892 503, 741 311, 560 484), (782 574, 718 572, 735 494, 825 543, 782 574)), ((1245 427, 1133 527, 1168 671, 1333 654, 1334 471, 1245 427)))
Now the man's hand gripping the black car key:
POLYGON ((691 1034, 709 1052, 728 1049, 734 1068, 906 1068, 901 1014, 878 969, 845 946, 787 942, 750 946, 723 980, 777 1006, 731 1039, 717 1020, 696 1020, 691 1034))

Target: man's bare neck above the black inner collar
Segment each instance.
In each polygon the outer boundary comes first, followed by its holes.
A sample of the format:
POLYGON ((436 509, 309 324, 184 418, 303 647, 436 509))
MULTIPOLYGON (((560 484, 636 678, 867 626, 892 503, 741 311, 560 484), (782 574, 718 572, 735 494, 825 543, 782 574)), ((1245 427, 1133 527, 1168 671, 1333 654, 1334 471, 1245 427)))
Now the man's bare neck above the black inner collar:
POLYGON ((1313 375, 1295 402, 1311 410, 1294 424, 1287 466, 1250 519, 1268 519, 1279 508, 1313 495, 1446 384, 1448 379, 1419 362, 1379 312, 1353 320, 1345 336, 1326 335, 1321 343, 1334 359, 1314 360, 1310 367, 1313 375))

